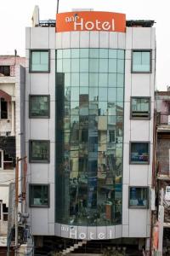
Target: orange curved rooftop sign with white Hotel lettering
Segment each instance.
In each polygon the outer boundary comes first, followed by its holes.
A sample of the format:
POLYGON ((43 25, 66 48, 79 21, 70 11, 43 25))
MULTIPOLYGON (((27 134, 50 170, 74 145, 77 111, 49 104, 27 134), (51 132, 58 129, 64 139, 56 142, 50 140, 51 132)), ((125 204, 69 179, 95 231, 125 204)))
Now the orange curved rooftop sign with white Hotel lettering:
POLYGON ((110 12, 81 11, 56 15, 55 32, 125 32, 126 15, 110 12))

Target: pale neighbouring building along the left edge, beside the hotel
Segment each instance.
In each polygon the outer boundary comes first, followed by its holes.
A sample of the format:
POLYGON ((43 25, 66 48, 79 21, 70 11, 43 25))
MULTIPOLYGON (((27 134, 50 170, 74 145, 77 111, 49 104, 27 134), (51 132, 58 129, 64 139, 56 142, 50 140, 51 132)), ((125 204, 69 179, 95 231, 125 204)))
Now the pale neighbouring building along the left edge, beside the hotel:
POLYGON ((7 245, 9 184, 14 183, 16 156, 24 154, 25 61, 26 58, 17 55, 0 56, 1 247, 7 245))

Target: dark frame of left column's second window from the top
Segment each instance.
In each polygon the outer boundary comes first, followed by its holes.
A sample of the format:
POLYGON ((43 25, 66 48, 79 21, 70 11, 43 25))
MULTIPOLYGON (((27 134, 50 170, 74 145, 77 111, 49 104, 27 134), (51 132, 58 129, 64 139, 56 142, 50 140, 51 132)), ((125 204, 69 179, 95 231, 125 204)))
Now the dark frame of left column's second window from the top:
POLYGON ((29 95, 29 119, 49 119, 50 118, 50 95, 48 94, 30 94, 29 95), (41 97, 41 96, 47 96, 48 97, 48 115, 37 115, 32 116, 31 115, 31 97, 41 97))

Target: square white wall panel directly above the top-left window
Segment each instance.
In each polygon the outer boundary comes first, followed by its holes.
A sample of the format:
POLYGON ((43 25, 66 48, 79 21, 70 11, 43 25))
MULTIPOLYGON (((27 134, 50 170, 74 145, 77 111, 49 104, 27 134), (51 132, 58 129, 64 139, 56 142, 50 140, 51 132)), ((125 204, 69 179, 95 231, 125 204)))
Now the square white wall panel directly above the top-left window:
POLYGON ((31 49, 49 48, 49 28, 31 27, 31 49))

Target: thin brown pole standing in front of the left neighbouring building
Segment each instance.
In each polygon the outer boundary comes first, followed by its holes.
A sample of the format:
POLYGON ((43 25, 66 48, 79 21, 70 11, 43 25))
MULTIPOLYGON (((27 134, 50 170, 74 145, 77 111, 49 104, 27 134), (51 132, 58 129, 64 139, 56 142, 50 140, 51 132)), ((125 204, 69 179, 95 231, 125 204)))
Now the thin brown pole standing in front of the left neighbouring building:
POLYGON ((14 255, 18 253, 18 200, 19 200, 19 157, 16 159, 15 168, 15 251, 14 255))

